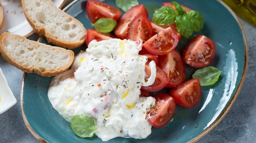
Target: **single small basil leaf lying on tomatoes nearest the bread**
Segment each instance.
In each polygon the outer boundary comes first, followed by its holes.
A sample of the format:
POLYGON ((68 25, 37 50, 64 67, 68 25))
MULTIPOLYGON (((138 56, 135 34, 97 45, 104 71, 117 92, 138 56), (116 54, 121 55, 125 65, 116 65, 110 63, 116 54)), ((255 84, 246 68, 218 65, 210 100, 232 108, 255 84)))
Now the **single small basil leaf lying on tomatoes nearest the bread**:
POLYGON ((97 31, 108 33, 115 29, 117 21, 112 18, 101 18, 92 25, 97 31))

